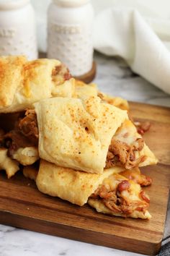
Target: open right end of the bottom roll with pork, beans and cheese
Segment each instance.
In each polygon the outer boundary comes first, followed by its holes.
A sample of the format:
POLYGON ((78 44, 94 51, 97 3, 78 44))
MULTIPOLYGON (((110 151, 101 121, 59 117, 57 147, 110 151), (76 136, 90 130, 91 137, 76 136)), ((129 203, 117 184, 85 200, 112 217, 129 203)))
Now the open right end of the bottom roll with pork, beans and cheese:
POLYGON ((112 216, 150 219, 150 199, 140 185, 120 174, 104 179, 88 203, 99 213, 112 216))

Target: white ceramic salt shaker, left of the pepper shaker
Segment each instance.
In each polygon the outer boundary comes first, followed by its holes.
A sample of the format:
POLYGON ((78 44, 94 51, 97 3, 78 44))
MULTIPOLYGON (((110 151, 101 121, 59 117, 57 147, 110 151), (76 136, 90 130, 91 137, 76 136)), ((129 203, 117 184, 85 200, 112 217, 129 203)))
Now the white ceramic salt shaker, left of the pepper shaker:
POLYGON ((35 12, 30 0, 0 0, 0 56, 37 59, 35 12))

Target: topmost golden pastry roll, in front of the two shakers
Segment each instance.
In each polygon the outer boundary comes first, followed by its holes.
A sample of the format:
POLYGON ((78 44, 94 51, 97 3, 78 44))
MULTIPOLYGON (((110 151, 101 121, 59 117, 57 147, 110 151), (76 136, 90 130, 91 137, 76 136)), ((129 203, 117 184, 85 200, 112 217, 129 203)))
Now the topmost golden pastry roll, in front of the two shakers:
POLYGON ((23 111, 52 96, 71 97, 74 82, 55 59, 27 61, 24 56, 0 58, 0 113, 23 111))

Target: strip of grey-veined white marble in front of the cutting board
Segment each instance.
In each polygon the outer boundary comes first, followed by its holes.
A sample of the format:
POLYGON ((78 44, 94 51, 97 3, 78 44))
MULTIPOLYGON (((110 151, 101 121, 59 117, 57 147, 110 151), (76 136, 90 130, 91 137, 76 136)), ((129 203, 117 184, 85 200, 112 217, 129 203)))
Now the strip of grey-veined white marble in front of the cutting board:
MULTIPOLYGON (((127 252, 0 225, 1 256, 124 256, 127 252)), ((138 254, 132 253, 131 256, 138 254)))

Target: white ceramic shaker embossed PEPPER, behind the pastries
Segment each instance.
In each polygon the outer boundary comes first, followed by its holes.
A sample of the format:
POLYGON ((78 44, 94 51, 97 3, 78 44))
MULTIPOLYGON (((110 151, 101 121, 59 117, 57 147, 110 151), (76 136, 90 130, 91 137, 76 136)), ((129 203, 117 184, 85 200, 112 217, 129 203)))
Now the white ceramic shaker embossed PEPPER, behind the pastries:
POLYGON ((48 9, 48 58, 61 60, 76 77, 93 64, 93 17, 90 0, 53 0, 48 9))

